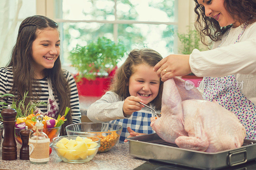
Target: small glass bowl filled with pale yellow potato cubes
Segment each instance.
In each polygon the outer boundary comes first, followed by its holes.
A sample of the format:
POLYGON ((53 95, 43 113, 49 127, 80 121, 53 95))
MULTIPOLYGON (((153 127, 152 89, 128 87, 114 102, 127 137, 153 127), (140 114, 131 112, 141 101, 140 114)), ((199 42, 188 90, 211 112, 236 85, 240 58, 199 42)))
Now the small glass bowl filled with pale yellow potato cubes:
POLYGON ((64 162, 89 162, 98 152, 100 138, 92 136, 60 136, 53 138, 52 145, 64 162))

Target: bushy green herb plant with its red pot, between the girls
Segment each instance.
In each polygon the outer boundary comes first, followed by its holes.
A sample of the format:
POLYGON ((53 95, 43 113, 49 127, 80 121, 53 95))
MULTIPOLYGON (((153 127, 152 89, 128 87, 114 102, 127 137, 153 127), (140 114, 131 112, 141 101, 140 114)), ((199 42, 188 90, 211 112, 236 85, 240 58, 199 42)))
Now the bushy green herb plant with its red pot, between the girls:
POLYGON ((116 44, 106 37, 99 37, 86 46, 77 44, 69 59, 78 71, 75 79, 79 95, 101 96, 108 89, 116 64, 125 52, 121 42, 116 44))

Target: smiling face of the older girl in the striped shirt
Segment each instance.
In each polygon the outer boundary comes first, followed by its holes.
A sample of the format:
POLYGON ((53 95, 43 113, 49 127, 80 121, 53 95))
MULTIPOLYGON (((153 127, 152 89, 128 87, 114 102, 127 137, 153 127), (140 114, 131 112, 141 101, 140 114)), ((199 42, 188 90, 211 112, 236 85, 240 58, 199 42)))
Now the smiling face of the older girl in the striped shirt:
POLYGON ((51 69, 59 55, 59 31, 57 29, 45 29, 37 32, 37 37, 32 43, 32 65, 36 78, 44 78, 44 69, 51 69))

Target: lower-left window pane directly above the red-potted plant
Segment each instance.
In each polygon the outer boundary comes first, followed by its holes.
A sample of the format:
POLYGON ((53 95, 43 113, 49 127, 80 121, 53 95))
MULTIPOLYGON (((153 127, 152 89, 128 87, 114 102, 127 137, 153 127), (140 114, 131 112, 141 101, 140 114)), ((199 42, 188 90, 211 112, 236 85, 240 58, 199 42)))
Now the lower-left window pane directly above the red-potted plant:
POLYGON ((107 37, 113 40, 113 24, 102 23, 63 23, 63 41, 61 54, 62 62, 69 63, 69 52, 76 47, 76 44, 80 46, 87 45, 90 41, 96 41, 98 37, 107 37))

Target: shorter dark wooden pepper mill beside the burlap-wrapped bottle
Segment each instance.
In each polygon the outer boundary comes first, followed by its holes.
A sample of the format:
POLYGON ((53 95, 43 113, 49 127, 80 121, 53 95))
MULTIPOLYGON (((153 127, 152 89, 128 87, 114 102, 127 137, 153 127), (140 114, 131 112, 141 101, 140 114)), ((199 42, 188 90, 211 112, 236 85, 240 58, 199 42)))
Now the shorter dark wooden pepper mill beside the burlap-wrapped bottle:
POLYGON ((20 148, 21 160, 29 160, 29 146, 28 146, 29 133, 30 133, 30 130, 28 130, 28 126, 26 126, 26 129, 20 130, 20 138, 22 141, 22 146, 20 148))

